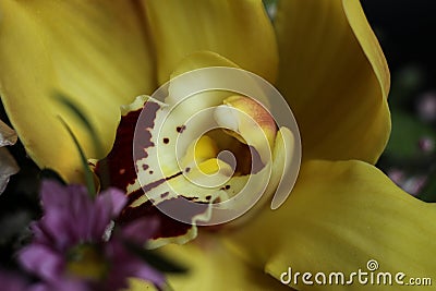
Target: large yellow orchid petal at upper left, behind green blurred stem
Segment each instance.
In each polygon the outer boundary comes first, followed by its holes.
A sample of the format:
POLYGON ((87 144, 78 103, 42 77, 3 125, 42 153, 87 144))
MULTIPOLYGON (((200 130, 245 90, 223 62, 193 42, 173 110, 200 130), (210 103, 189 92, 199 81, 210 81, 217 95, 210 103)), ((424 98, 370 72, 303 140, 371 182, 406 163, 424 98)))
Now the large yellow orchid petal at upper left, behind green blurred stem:
POLYGON ((129 1, 11 1, 0 3, 0 93, 28 154, 70 181, 80 180, 76 149, 90 138, 58 101, 61 92, 96 128, 108 150, 119 106, 155 87, 153 62, 137 10, 129 1))

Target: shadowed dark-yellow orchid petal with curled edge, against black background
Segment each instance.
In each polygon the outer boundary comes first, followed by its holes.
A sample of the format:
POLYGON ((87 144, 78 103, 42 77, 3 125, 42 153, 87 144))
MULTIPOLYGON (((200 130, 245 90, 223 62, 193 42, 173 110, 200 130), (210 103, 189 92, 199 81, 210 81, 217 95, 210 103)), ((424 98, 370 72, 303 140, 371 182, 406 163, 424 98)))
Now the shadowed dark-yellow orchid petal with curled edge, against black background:
POLYGON ((375 162, 390 131, 389 71, 359 1, 280 1, 275 24, 303 158, 375 162))

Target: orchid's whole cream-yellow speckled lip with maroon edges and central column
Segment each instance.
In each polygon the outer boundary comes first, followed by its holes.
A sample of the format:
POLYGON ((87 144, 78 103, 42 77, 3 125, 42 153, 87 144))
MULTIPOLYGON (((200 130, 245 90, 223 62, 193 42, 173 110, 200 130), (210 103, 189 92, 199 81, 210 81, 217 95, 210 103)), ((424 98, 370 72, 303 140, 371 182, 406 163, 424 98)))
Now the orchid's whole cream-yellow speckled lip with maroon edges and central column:
MULTIPOLYGON (((232 65, 217 53, 201 51, 190 54, 175 71, 204 62, 232 65)), ((171 78, 152 97, 140 96, 123 106, 113 148, 104 163, 96 163, 96 173, 104 177, 108 170, 111 184, 129 197, 120 221, 158 216, 166 226, 150 247, 185 243, 197 235, 197 223, 230 222, 252 207, 263 207, 272 194, 271 207, 277 208, 296 179, 301 153, 296 124, 277 126, 258 100, 230 90, 192 95, 195 84, 215 87, 211 84, 225 78, 222 74, 232 81, 240 77, 240 83, 253 81, 234 68, 209 69, 171 78), (165 102, 155 98, 160 95, 166 96, 165 102)), ((280 110, 283 107, 284 100, 280 110)), ((292 117, 290 111, 283 113, 292 117)))

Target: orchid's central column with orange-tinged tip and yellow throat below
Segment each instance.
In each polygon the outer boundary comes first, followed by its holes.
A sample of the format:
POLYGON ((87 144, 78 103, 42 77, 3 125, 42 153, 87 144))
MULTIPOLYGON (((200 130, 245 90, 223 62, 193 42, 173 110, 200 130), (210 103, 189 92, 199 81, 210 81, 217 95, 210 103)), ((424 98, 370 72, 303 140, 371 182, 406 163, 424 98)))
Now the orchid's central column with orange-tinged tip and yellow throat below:
MULTIPOLYGON (((191 141, 180 166, 192 184, 202 192, 215 189, 220 198, 213 201, 225 202, 270 162, 277 126, 261 104, 243 96, 228 97, 210 118, 218 126, 191 141)), ((235 203, 220 207, 231 209, 235 203)))

